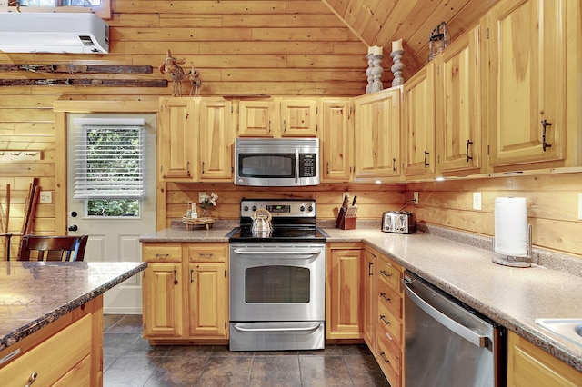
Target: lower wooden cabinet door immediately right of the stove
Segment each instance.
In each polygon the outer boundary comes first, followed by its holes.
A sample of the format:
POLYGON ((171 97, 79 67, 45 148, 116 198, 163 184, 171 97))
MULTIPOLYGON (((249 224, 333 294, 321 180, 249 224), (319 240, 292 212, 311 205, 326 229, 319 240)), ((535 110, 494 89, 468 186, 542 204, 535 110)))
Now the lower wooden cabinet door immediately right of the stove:
POLYGON ((362 338, 361 249, 331 248, 326 258, 326 338, 362 338))

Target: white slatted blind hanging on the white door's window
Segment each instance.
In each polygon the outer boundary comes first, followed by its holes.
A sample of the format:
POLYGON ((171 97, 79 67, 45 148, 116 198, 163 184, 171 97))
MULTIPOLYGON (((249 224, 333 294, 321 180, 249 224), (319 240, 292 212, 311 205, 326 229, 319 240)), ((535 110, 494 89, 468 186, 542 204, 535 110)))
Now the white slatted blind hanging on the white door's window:
POLYGON ((83 124, 75 141, 75 199, 144 196, 143 125, 83 124))

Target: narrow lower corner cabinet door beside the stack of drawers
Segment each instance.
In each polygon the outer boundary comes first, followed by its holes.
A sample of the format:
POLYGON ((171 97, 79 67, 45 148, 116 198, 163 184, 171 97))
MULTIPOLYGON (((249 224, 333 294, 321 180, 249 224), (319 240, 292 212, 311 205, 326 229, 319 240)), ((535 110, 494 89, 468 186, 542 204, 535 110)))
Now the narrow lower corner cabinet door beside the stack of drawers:
POLYGON ((362 282, 364 285, 364 340, 370 351, 376 352, 376 255, 364 251, 362 260, 362 282))

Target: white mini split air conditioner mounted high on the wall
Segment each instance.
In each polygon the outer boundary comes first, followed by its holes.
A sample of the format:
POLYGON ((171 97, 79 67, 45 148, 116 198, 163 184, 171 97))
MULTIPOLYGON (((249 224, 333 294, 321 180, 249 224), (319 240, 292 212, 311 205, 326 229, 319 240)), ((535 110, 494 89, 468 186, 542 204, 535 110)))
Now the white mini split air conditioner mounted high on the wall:
POLYGON ((94 14, 2 13, 5 53, 108 53, 109 25, 94 14))

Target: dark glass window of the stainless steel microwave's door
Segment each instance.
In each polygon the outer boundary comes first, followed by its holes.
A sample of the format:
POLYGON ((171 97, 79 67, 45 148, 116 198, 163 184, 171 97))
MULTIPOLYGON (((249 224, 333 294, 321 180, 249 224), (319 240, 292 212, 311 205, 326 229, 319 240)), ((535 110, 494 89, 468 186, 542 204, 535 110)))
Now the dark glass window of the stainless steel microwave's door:
POLYGON ((295 154, 239 154, 239 177, 295 177, 295 154))

